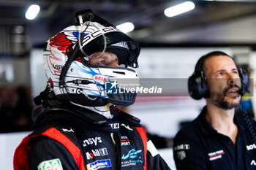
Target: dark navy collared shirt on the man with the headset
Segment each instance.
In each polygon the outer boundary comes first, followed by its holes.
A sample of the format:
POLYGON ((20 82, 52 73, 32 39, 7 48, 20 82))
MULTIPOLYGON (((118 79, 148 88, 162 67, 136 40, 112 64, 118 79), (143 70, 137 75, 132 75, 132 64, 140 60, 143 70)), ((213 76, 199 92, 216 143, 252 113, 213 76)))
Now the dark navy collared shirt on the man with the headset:
MULTIPOLYGON (((250 121, 255 128, 255 120, 250 121)), ((236 144, 208 123, 204 107, 174 139, 173 156, 177 170, 256 169, 256 145, 249 127, 244 118, 237 115, 234 123, 238 126, 236 144)))

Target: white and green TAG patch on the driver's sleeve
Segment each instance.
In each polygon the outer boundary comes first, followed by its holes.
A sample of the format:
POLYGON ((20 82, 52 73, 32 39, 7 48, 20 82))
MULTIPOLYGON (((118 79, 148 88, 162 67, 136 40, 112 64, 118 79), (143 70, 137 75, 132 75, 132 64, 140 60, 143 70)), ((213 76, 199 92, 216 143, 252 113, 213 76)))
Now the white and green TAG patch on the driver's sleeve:
POLYGON ((38 170, 63 170, 61 161, 58 159, 52 159, 48 161, 43 161, 37 166, 38 170))

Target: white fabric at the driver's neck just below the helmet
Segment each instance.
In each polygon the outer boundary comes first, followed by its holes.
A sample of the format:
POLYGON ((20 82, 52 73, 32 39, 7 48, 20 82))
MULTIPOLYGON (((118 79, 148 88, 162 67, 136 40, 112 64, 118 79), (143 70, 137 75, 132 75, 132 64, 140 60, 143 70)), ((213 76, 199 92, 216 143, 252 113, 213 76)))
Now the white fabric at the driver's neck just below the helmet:
POLYGON ((70 101, 70 103, 72 103, 72 104, 74 104, 78 107, 83 107, 83 108, 89 109, 93 112, 97 112, 100 115, 105 116, 107 119, 112 119, 113 118, 113 115, 110 113, 110 106, 112 106, 113 104, 108 103, 105 106, 100 106, 100 107, 87 107, 87 106, 84 106, 84 105, 75 104, 72 101, 70 101))

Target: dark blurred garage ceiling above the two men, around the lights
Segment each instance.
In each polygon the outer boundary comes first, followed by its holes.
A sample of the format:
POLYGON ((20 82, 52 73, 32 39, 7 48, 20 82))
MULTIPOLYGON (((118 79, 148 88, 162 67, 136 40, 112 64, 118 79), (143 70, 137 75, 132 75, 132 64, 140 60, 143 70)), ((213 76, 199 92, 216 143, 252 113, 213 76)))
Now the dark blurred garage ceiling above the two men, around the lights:
MULTIPOLYGON (((138 42, 147 42, 148 37, 164 36, 172 31, 198 26, 208 26, 212 23, 233 20, 256 14, 254 0, 226 0, 195 2, 195 9, 167 18, 164 9, 181 1, 173 0, 0 0, 0 26, 18 26, 26 28, 30 45, 45 42, 63 28, 75 22, 75 12, 91 8, 94 13, 105 18, 110 23, 118 25, 124 22, 135 24, 135 30, 129 33, 138 42), (41 10, 35 20, 26 20, 26 9, 30 4, 39 4, 41 10)), ((161 39, 157 40, 161 42, 161 39)))

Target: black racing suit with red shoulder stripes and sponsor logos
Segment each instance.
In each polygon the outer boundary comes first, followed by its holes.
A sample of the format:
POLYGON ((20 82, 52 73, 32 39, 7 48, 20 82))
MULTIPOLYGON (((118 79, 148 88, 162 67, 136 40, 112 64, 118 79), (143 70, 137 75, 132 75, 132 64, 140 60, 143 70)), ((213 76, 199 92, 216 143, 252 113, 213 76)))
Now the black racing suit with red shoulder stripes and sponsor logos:
POLYGON ((74 106, 37 109, 39 128, 15 150, 14 169, 170 169, 138 118, 110 112, 113 119, 74 106))

